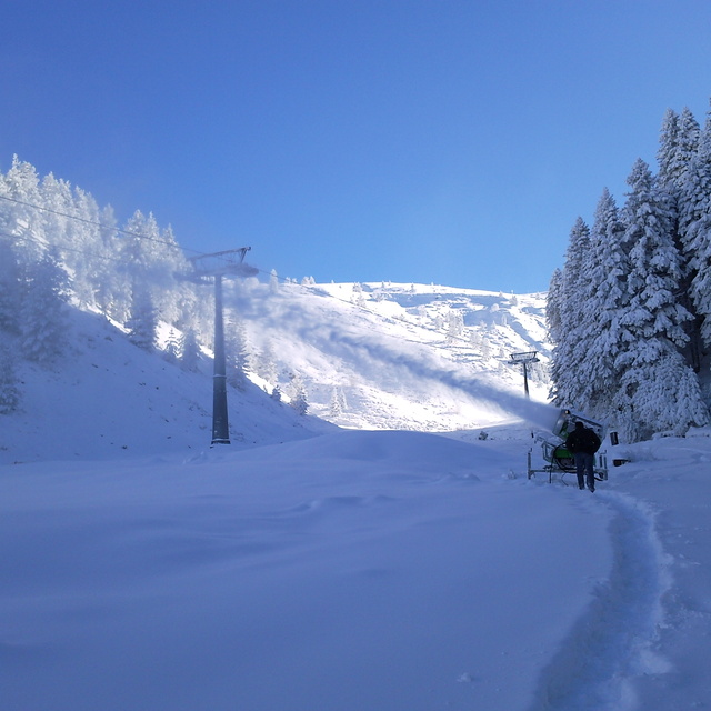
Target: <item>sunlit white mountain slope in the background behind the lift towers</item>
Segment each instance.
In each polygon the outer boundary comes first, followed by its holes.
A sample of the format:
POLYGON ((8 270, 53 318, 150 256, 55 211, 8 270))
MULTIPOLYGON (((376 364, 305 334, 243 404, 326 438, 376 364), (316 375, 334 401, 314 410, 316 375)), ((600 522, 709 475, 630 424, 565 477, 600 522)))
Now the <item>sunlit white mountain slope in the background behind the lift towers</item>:
POLYGON ((513 352, 538 351, 533 398, 548 394, 544 294, 423 284, 239 287, 253 362, 274 353, 281 390, 296 373, 310 411, 341 427, 445 431, 511 419, 489 388, 523 393, 513 352))

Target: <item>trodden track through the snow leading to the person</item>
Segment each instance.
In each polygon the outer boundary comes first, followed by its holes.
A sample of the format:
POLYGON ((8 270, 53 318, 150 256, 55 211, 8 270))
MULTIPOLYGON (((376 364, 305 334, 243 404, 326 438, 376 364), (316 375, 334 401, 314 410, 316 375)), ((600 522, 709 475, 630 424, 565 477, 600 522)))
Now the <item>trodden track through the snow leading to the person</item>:
MULTIPOLYGON (((667 564, 653 514, 617 492, 598 492, 617 515, 610 525, 614 562, 587 614, 543 671, 530 711, 632 711, 633 680, 665 670, 652 647, 662 621, 667 564)), ((581 554, 595 541, 580 537, 581 554)))

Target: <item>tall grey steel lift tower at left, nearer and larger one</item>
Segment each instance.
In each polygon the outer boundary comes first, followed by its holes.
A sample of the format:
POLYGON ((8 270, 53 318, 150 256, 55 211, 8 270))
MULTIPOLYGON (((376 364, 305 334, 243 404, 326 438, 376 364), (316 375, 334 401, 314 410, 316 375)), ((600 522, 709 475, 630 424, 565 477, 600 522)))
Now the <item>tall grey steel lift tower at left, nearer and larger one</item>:
POLYGON ((206 284, 214 280, 214 367, 212 380, 212 445, 230 443, 230 423, 227 413, 227 368, 224 363, 224 319, 222 316, 222 278, 253 277, 254 267, 244 263, 251 247, 228 249, 212 254, 191 257, 190 281, 206 284))

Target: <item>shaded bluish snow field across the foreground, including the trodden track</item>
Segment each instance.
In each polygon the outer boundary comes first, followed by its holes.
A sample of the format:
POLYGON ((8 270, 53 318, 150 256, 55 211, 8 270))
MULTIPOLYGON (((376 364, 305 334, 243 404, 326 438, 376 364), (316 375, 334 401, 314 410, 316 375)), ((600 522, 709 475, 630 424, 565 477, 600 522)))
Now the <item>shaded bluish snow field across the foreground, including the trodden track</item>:
POLYGON ((489 434, 4 465, 2 709, 707 708, 711 439, 489 434))

